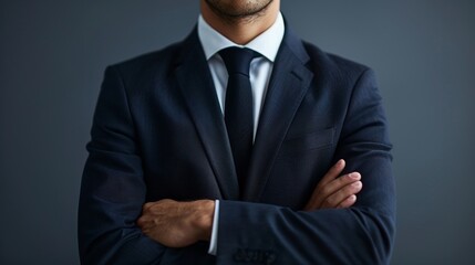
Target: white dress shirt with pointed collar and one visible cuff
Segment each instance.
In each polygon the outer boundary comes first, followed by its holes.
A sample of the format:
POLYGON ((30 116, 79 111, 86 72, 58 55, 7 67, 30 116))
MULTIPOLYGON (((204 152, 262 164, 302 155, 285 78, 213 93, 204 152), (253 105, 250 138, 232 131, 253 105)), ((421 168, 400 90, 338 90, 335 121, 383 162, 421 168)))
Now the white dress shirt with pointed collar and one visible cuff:
MULTIPOLYGON (((269 84, 270 75, 272 73, 273 62, 279 51, 280 43, 282 42, 285 33, 285 24, 282 14, 279 13, 276 22, 256 36, 246 45, 239 45, 228 40, 219 32, 214 30, 202 15, 198 18, 198 36, 205 51, 206 60, 211 72, 213 81, 216 88, 216 95, 221 107, 225 112, 226 104, 226 87, 228 83, 228 73, 226 65, 218 54, 223 49, 229 46, 248 47, 261 54, 262 56, 256 57, 250 63, 249 80, 252 88, 252 108, 254 108, 254 138, 256 138, 257 126, 259 124, 260 110, 264 106, 267 86, 269 84)), ((224 113, 224 115, 226 115, 224 113)), ((217 237, 218 237, 218 222, 219 222, 219 201, 216 200, 215 215, 213 221, 213 232, 209 243, 208 253, 216 255, 217 252, 217 237)))

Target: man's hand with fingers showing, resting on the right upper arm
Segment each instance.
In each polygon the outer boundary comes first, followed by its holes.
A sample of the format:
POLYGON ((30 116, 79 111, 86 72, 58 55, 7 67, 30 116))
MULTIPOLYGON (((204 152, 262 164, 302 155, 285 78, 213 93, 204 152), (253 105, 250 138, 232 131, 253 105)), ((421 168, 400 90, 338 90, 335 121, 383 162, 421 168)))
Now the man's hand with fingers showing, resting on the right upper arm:
POLYGON ((339 160, 320 180, 304 211, 313 211, 328 208, 349 208, 357 202, 357 193, 361 191, 361 174, 352 172, 341 176, 345 162, 339 160))

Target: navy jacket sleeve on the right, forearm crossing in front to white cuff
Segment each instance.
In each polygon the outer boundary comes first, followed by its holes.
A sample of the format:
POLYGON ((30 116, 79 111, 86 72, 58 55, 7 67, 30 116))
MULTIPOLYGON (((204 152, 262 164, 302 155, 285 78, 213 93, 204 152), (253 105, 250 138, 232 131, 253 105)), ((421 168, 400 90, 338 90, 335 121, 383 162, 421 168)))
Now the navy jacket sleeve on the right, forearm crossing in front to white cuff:
POLYGON ((362 174, 350 209, 295 211, 221 201, 218 264, 386 264, 394 236, 395 192, 391 145, 374 75, 364 71, 352 88, 334 160, 362 174))

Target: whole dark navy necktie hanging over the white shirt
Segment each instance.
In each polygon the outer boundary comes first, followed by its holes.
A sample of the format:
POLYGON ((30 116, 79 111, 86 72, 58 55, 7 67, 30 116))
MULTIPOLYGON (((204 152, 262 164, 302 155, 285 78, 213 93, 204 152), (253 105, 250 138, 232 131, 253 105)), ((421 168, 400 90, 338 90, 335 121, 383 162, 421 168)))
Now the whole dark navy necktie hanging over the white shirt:
POLYGON ((225 121, 242 194, 249 168, 254 136, 250 61, 258 53, 249 49, 227 47, 219 51, 228 71, 225 121))

